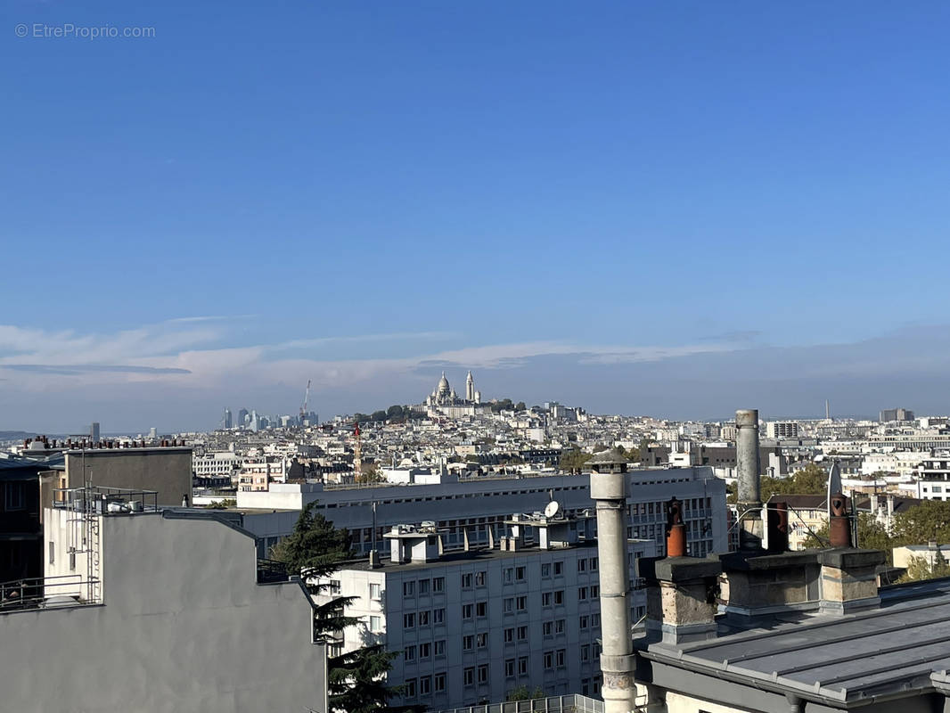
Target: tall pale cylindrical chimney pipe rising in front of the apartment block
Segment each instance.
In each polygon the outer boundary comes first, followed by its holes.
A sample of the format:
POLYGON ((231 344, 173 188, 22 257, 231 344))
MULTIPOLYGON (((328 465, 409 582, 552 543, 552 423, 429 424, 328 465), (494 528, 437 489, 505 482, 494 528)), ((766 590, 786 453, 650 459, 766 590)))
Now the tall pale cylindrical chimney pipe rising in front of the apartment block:
MULTIPOLYGON (((609 453, 609 452, 608 452, 609 453)), ((630 630, 627 566, 627 464, 609 454, 591 462, 591 498, 597 503, 600 577, 600 670, 604 713, 637 707, 634 643, 630 630)))

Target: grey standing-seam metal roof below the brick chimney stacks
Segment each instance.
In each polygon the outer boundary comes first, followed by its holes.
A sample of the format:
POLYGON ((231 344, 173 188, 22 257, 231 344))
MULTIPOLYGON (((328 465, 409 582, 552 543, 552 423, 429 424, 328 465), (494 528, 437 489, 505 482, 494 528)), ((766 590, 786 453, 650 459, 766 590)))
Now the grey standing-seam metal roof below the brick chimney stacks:
POLYGON ((846 616, 788 611, 745 628, 727 617, 715 639, 637 646, 657 663, 836 707, 932 689, 932 674, 950 668, 950 578, 881 588, 881 598, 846 616))

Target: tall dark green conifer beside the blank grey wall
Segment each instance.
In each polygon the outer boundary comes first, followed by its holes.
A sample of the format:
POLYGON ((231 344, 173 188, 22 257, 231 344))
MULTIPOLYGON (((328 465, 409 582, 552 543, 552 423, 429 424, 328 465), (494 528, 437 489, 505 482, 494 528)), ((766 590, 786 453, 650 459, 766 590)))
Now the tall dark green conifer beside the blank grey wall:
MULTIPOLYGON (((323 594, 327 579, 340 564, 352 556, 350 533, 333 527, 316 502, 300 513, 294 531, 272 550, 272 557, 289 572, 299 574, 314 594, 323 594)), ((327 641, 359 619, 344 615, 344 607, 355 597, 334 597, 314 608, 314 638, 327 641)), ((327 660, 327 687, 330 707, 339 713, 371 713, 384 710, 397 692, 386 685, 385 675, 396 654, 382 646, 365 646, 327 660)))

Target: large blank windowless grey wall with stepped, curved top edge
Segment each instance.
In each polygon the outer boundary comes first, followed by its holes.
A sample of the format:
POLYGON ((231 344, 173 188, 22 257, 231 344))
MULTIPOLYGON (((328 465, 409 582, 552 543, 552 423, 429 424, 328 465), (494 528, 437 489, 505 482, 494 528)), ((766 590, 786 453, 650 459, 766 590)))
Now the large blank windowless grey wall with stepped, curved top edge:
POLYGON ((256 584, 254 540, 213 520, 103 518, 104 606, 0 614, 0 708, 326 710, 296 583, 256 584))

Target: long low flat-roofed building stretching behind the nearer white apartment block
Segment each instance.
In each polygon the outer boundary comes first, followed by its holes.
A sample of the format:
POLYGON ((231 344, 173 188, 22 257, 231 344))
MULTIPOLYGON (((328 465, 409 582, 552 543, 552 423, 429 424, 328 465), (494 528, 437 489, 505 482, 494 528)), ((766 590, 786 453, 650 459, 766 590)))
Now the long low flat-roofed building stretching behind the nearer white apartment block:
MULTIPOLYGON (((713 475, 712 468, 643 468, 628 472, 627 478, 627 505, 632 518, 629 537, 653 539, 657 554, 665 554, 663 503, 675 495, 687 504, 684 515, 691 555, 702 557, 730 549, 726 484, 713 475)), ((496 541, 504 535, 504 521, 512 512, 536 511, 551 499, 561 503, 566 514, 593 511, 590 476, 523 473, 471 480, 449 476, 439 484, 373 487, 272 484, 269 491, 238 491, 237 510, 261 513, 260 518, 245 516, 244 527, 273 538, 290 530, 276 532, 270 513, 299 511, 316 500, 319 511, 333 525, 350 530, 353 548, 367 553, 373 543, 378 549, 383 535, 396 525, 428 520, 445 533, 447 549, 462 546, 463 530, 467 530, 471 544, 485 545, 489 530, 496 541), (262 525, 266 521, 267 532, 257 530, 258 519, 262 525)))

